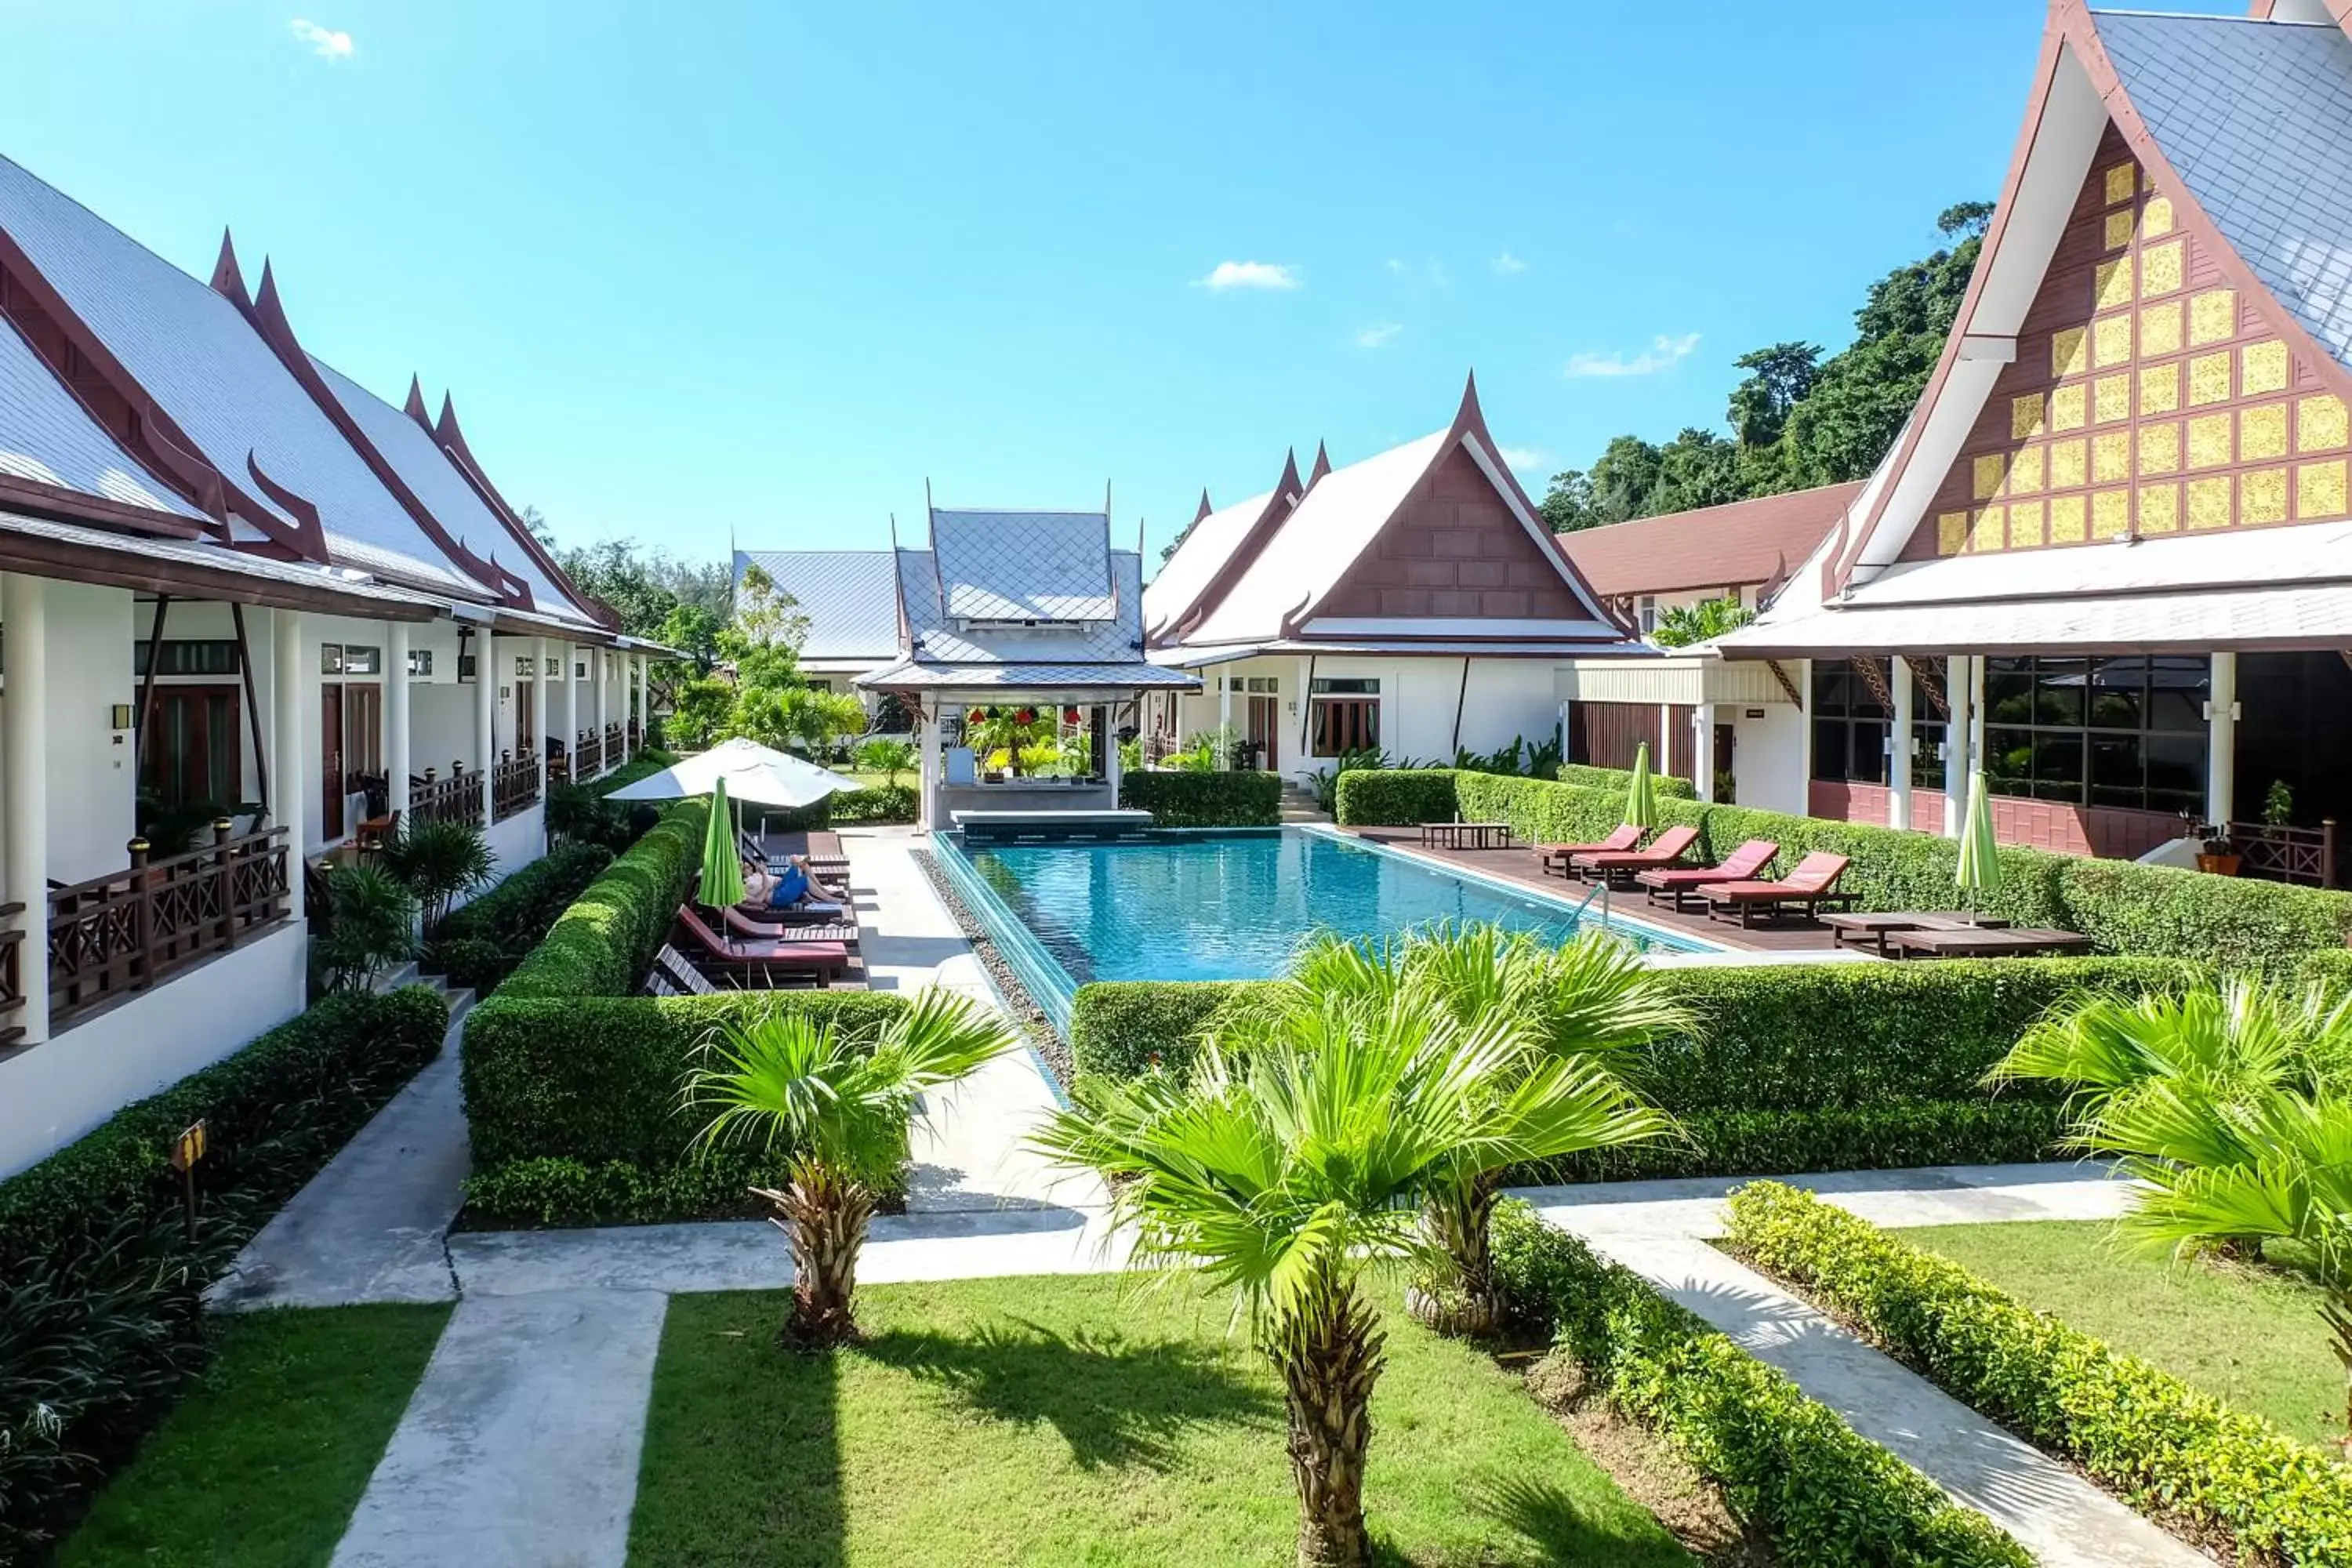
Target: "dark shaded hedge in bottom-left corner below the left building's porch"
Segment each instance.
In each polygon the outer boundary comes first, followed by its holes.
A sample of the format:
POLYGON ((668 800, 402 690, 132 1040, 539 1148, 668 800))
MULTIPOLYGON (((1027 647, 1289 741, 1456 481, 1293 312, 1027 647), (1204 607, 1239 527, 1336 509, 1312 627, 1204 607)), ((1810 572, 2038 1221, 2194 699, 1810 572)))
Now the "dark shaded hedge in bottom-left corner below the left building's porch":
POLYGON ((0 1180, 0 1561, 38 1554, 205 1361, 202 1291, 440 1051, 440 994, 329 997, 0 1180), (191 1241, 172 1138, 202 1119, 191 1241))

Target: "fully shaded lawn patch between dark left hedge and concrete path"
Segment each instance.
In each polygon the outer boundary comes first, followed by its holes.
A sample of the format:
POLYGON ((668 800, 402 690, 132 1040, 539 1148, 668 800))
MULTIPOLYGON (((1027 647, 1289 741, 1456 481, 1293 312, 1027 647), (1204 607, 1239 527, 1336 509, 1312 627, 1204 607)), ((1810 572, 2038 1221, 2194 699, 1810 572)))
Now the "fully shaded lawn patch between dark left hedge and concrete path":
POLYGON ((221 1319, 219 1354, 59 1568, 320 1568, 423 1378, 449 1307, 221 1319))

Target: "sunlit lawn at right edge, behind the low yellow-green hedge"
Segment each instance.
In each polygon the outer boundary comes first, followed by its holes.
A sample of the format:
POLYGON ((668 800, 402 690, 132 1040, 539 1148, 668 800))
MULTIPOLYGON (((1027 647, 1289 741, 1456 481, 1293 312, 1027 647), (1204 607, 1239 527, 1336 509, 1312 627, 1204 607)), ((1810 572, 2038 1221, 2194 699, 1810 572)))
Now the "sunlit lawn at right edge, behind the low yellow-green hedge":
POLYGON ((2147 1258, 2114 1246, 2112 1234, 2096 1220, 1900 1232, 2291 1436, 2343 1436, 2345 1375, 2328 1352, 2317 1286, 2277 1269, 2147 1258))

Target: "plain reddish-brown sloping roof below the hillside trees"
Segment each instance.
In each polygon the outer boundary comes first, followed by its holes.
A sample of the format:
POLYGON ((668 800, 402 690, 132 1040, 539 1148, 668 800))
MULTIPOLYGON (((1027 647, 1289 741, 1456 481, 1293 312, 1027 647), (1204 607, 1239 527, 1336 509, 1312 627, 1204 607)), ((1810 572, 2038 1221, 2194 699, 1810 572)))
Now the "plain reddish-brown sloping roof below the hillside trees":
POLYGON ((1860 491, 1860 480, 1823 484, 1613 522, 1562 534, 1559 543, 1592 590, 1611 599, 1769 583, 1804 564, 1860 491))

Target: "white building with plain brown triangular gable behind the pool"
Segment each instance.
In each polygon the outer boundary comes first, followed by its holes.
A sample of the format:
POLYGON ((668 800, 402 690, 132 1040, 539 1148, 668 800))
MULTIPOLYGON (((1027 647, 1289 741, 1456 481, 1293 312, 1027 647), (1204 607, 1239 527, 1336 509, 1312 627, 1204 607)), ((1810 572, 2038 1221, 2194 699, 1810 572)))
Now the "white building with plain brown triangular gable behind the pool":
POLYGON ((1152 663, 1202 677, 1145 703, 1152 750, 1235 736, 1308 776, 1345 752, 1439 759, 1548 743, 1555 670, 1646 656, 1562 552, 1503 461, 1477 383, 1454 423, 1345 468, 1317 451, 1209 510, 1143 595, 1152 663))

